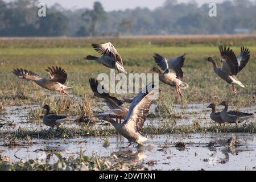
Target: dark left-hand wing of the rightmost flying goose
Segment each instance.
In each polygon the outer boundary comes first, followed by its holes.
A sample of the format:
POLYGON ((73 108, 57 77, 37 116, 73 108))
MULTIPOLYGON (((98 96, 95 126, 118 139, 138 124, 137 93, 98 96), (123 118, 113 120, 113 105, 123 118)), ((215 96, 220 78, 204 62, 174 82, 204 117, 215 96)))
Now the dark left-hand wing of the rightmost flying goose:
POLYGON ((238 62, 237 57, 229 47, 218 47, 221 53, 221 61, 223 66, 221 70, 229 75, 237 75, 238 73, 238 62))

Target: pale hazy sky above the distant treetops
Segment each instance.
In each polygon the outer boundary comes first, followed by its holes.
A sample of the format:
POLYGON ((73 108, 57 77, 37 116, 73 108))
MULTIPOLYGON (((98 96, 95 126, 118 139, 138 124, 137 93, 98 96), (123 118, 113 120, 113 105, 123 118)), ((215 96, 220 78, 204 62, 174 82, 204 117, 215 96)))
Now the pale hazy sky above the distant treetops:
MULTIPOLYGON (((12 1, 12 0, 5 0, 12 1)), ((155 9, 155 7, 163 5, 166 0, 39 0, 48 6, 54 3, 59 3, 65 9, 79 9, 87 7, 91 9, 95 1, 100 1, 106 11, 111 10, 125 10, 127 8, 134 9, 135 7, 148 7, 148 9, 155 9)), ((178 2, 189 2, 191 0, 177 0, 178 2)), ((210 2, 222 2, 224 0, 194 0, 199 5, 210 2)))

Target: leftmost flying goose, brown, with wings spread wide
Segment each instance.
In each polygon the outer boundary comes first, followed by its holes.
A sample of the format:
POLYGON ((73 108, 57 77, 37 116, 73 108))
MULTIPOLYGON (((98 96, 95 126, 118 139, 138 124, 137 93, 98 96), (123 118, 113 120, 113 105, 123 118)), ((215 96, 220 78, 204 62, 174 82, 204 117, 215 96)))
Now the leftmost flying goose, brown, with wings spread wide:
POLYGON ((65 89, 71 89, 71 87, 63 85, 67 80, 67 73, 64 69, 60 67, 48 67, 46 71, 49 73, 49 77, 42 78, 36 73, 31 71, 27 71, 26 69, 14 69, 13 73, 19 78, 25 80, 32 80, 42 88, 58 91, 61 94, 65 94, 68 96, 68 93, 65 92, 65 89))

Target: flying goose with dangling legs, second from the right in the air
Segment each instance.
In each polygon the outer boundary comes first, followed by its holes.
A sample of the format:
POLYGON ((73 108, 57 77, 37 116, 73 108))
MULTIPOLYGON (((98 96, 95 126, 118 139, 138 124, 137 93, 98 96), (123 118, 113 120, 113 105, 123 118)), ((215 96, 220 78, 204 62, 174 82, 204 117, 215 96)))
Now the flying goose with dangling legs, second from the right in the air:
POLYGON ((186 54, 187 53, 184 53, 184 55, 182 56, 167 61, 165 57, 159 55, 158 53, 155 53, 155 62, 164 71, 164 73, 162 73, 156 67, 150 69, 150 72, 156 72, 159 74, 160 81, 164 82, 167 85, 174 86, 176 88, 177 94, 180 97, 182 97, 180 89, 188 88, 188 84, 181 81, 183 79, 183 71, 181 68, 183 67, 186 54))

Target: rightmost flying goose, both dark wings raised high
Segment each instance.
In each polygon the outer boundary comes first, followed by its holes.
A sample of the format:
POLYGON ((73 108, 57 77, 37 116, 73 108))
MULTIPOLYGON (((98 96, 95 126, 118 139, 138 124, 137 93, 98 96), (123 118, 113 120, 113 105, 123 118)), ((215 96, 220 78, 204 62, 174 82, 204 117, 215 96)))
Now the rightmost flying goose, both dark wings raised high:
POLYGON ((218 68, 216 61, 212 57, 208 57, 208 61, 212 62, 214 72, 221 77, 223 80, 232 84, 233 92, 236 94, 237 89, 235 85, 239 85, 242 88, 245 88, 245 85, 242 84, 241 81, 236 77, 237 73, 239 73, 248 63, 250 59, 250 51, 246 47, 241 47, 240 56, 236 57, 232 49, 229 47, 218 47, 221 53, 221 62, 222 67, 218 68))

